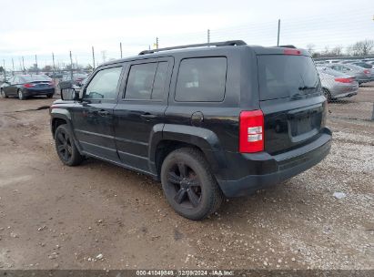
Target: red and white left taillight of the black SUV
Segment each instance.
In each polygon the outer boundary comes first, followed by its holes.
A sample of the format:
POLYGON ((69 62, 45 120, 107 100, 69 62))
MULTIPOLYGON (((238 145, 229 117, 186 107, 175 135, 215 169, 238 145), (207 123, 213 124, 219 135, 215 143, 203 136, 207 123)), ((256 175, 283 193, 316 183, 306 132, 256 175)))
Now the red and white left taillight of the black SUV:
POLYGON ((264 150, 264 114, 262 110, 242 111, 239 118, 239 152, 264 150))

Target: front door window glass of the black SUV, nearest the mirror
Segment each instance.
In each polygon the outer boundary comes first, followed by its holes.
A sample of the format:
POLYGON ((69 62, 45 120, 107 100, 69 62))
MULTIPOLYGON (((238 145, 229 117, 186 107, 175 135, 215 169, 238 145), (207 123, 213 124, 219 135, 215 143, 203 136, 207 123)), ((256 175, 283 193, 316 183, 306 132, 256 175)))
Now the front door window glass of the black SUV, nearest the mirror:
POLYGON ((116 98, 116 87, 122 67, 100 70, 86 88, 86 98, 103 99, 116 98))

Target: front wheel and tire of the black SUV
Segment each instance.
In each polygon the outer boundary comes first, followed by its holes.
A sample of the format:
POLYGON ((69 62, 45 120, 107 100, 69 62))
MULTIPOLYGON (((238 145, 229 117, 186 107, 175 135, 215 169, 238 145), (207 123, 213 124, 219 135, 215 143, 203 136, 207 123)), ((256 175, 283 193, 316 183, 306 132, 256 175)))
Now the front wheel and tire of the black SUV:
POLYGON ((62 124, 56 129, 55 145, 58 158, 66 166, 77 166, 83 161, 83 156, 76 149, 73 135, 66 124, 62 124))

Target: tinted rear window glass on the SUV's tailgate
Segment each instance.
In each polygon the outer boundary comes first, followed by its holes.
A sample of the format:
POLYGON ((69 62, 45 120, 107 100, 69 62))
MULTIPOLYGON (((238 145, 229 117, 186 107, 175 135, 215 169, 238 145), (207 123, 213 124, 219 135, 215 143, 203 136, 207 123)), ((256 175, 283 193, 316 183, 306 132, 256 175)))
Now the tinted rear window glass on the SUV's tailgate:
POLYGON ((258 56, 260 100, 294 97, 318 89, 316 67, 309 56, 258 56))

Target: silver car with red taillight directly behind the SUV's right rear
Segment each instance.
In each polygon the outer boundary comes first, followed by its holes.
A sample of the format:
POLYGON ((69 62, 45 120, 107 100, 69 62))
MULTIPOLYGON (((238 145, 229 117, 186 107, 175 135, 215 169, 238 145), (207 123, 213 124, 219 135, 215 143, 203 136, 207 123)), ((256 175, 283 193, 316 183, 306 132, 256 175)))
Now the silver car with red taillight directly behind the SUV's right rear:
POLYGON ((357 95, 359 82, 356 81, 356 77, 343 74, 329 67, 317 67, 317 70, 323 92, 329 102, 357 95))

